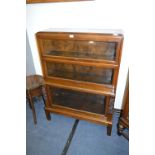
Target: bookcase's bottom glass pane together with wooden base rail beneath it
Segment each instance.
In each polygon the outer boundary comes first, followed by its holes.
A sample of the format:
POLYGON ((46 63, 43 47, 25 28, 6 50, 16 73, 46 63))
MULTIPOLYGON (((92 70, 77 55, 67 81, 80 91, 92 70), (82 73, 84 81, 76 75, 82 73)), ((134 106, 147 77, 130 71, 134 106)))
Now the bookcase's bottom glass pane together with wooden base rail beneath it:
POLYGON ((111 125, 112 114, 105 115, 105 97, 77 91, 50 87, 52 104, 46 111, 111 125))

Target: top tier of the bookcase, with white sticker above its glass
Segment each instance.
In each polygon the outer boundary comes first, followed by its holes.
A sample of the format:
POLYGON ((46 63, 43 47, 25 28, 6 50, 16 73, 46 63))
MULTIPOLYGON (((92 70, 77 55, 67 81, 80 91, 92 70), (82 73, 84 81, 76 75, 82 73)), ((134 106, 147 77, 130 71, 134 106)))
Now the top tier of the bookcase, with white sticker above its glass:
POLYGON ((110 63, 119 61, 123 41, 119 31, 109 30, 104 34, 99 30, 88 32, 38 32, 36 37, 40 54, 56 58, 107 60, 111 61, 110 63))

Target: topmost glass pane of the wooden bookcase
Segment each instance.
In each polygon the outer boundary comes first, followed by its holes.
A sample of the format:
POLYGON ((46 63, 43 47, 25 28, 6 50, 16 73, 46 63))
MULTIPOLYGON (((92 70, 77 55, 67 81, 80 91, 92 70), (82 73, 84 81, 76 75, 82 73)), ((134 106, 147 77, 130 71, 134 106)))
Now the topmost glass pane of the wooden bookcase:
POLYGON ((43 40, 43 53, 52 56, 115 60, 116 43, 43 40))

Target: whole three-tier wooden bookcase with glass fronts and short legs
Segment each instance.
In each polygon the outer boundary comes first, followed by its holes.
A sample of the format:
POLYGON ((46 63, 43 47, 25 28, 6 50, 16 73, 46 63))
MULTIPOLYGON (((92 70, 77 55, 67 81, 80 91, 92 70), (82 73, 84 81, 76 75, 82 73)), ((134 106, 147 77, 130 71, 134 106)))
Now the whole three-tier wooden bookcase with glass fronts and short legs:
POLYGON ((50 113, 107 126, 113 106, 123 35, 117 30, 49 29, 36 34, 50 113))

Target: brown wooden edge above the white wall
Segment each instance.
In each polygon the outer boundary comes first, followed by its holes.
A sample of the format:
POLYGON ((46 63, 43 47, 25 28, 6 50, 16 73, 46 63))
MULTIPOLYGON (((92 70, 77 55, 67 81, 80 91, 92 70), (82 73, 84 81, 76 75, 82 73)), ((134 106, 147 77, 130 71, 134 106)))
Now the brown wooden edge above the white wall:
POLYGON ((93 1, 93 0, 26 0, 26 4, 51 3, 51 2, 75 2, 75 1, 93 1))

